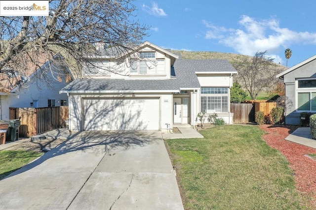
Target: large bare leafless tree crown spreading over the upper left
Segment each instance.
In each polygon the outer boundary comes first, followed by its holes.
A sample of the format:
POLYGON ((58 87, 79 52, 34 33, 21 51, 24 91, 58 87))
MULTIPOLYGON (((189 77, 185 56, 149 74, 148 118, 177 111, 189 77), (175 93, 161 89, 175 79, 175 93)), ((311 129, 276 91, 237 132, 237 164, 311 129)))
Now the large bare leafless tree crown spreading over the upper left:
POLYGON ((80 77, 88 56, 128 52, 149 29, 136 20, 133 1, 49 0, 47 17, 0 17, 0 80, 7 80, 10 72, 35 72, 48 60, 54 66, 67 65, 80 77), (102 50, 96 47, 100 43, 102 50))

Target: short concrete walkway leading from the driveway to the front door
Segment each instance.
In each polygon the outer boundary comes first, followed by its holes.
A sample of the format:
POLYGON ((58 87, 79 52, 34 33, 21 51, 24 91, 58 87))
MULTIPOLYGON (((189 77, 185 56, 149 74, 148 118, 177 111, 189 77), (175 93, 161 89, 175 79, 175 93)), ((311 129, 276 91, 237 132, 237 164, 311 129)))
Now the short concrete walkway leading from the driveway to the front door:
POLYGON ((204 138, 189 124, 173 125, 177 127, 181 133, 162 133, 163 139, 191 139, 191 138, 204 138))

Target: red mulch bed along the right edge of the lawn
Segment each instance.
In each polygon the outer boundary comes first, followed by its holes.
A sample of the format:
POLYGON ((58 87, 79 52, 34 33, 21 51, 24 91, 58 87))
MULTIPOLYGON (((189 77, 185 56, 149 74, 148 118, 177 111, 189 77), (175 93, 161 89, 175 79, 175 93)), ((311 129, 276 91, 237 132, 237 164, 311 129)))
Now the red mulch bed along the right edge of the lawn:
POLYGON ((285 140, 298 127, 260 125, 260 128, 267 132, 263 139, 287 158, 294 171, 297 190, 310 197, 310 205, 316 209, 316 160, 306 156, 316 154, 316 149, 285 140))

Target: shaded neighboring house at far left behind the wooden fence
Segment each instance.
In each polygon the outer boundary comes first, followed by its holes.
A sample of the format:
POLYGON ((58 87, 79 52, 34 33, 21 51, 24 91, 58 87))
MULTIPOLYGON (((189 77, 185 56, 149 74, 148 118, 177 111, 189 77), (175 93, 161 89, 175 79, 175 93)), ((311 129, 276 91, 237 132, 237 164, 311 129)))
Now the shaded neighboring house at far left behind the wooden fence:
MULTIPOLYGON (((58 70, 65 72, 65 75, 58 76, 53 73, 54 67, 49 61, 43 61, 40 65, 36 72, 31 73, 29 71, 29 76, 19 75, 15 72, 9 74, 7 79, 0 80, 0 120, 8 120, 10 118, 10 107, 68 106, 67 94, 59 93, 59 90, 72 81, 68 69, 64 66, 59 66, 58 70)), ((27 72, 26 74, 28 74, 27 72)), ((2 78, 6 78, 5 75, 2 78)))

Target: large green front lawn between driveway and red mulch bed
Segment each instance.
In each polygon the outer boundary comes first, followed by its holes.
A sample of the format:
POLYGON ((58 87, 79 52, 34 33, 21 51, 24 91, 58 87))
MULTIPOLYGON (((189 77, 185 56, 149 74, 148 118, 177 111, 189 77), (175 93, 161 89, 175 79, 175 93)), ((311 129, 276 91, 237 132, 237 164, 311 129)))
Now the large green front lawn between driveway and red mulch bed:
POLYGON ((186 210, 307 209, 286 158, 262 140, 258 126, 215 126, 201 134, 165 141, 186 210))

